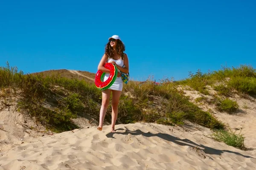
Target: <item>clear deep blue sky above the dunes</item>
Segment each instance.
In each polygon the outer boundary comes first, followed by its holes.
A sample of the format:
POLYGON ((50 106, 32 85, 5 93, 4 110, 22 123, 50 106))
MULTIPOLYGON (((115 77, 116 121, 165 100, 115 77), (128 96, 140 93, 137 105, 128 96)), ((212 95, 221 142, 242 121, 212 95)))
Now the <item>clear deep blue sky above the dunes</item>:
POLYGON ((254 0, 2 0, 0 66, 96 73, 108 37, 117 34, 136 80, 256 68, 255 9, 254 0))

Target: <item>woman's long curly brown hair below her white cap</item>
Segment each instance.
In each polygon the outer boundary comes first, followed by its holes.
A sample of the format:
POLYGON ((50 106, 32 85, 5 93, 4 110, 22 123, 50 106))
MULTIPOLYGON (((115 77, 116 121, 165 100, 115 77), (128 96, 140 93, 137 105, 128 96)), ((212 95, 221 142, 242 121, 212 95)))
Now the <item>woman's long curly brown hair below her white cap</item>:
MULTIPOLYGON (((122 43, 122 41, 117 40, 116 52, 118 56, 121 57, 122 59, 124 59, 124 51, 125 51, 125 45, 122 43)), ((114 54, 114 49, 111 47, 110 42, 108 42, 105 46, 105 54, 106 54, 106 57, 109 57, 109 58, 112 58, 114 54)))

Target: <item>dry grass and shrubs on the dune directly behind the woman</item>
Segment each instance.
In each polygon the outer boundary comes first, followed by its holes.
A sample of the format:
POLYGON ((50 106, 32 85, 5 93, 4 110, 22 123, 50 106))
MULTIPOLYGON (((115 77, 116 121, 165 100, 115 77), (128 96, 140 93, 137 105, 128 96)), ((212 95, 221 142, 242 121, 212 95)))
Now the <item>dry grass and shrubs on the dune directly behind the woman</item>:
MULTIPOLYGON (((87 72, 79 73, 93 77, 93 74, 87 72)), ((0 69, 0 76, 2 88, 11 87, 21 91, 19 108, 52 130, 75 128, 72 119, 77 116, 90 115, 95 119, 99 117, 101 91, 83 76, 73 75, 68 70, 25 75, 9 64, 0 69)), ((125 85, 120 98, 117 123, 143 121, 182 124, 185 119, 209 128, 223 127, 215 117, 201 111, 175 90, 173 83, 165 82, 165 85, 158 86, 148 79, 144 83, 130 81, 125 85)), ((111 122, 110 114, 106 116, 106 122, 108 121, 111 122)))

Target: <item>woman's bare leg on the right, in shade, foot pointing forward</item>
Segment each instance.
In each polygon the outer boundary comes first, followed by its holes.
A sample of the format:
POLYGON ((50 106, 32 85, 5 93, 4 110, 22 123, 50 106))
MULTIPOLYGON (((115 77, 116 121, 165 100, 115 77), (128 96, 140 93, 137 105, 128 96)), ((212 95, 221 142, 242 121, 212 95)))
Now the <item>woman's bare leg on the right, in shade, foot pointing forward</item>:
POLYGON ((121 96, 122 91, 112 91, 112 120, 111 120, 111 132, 115 131, 117 113, 118 113, 118 104, 119 98, 121 96))

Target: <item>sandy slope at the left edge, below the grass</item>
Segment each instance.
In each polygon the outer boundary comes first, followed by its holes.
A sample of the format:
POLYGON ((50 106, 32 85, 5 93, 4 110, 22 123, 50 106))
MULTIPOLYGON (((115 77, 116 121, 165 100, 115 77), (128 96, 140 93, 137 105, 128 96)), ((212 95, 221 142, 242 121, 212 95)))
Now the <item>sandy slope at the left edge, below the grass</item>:
POLYGON ((49 133, 42 125, 37 125, 35 119, 16 111, 15 105, 3 107, 0 103, 0 153, 44 134, 49 133))

